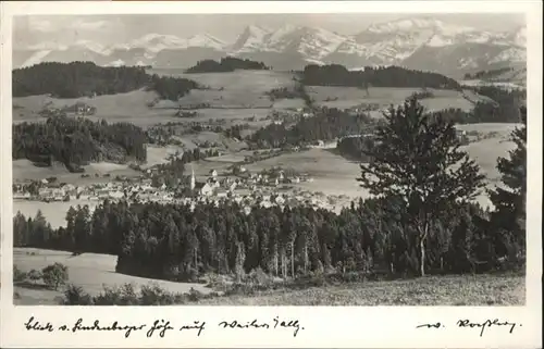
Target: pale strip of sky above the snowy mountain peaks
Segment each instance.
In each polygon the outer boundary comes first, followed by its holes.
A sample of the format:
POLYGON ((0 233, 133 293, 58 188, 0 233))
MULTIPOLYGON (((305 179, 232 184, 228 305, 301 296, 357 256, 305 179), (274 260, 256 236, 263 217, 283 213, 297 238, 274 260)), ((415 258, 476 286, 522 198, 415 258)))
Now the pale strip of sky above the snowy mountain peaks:
MULTIPOLYGON (((208 33, 232 42, 247 25, 272 29, 286 24, 316 26, 338 34, 350 35, 372 23, 388 22, 424 14, 138 14, 138 15, 70 15, 17 16, 14 18, 13 43, 25 48, 42 41, 70 45, 76 40, 91 40, 101 45, 127 42, 143 35, 171 34, 185 38, 208 33)), ((483 30, 514 30, 524 25, 518 14, 433 14, 437 20, 471 26, 483 30)))

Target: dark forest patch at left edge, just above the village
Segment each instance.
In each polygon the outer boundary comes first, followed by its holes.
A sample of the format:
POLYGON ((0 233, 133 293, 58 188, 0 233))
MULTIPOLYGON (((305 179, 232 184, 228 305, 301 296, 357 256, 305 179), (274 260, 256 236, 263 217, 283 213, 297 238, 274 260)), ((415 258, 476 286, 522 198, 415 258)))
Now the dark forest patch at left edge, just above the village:
POLYGON ((124 163, 145 161, 145 132, 129 123, 108 124, 83 117, 49 117, 45 123, 21 123, 12 126, 12 157, 28 159, 49 166, 62 162, 74 172, 91 161, 124 163))

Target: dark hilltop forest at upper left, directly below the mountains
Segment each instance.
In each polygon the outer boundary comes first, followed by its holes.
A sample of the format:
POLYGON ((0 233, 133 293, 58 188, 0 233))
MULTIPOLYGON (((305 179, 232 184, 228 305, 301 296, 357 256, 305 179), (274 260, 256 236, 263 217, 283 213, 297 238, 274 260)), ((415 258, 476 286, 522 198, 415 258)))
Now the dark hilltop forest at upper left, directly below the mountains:
POLYGON ((91 62, 40 63, 13 71, 13 97, 51 95, 55 98, 94 97, 149 88, 177 100, 197 84, 186 78, 149 75, 139 66, 98 66, 91 62))

